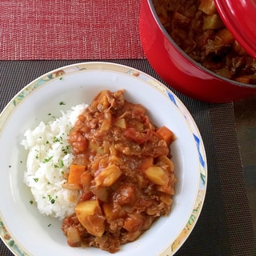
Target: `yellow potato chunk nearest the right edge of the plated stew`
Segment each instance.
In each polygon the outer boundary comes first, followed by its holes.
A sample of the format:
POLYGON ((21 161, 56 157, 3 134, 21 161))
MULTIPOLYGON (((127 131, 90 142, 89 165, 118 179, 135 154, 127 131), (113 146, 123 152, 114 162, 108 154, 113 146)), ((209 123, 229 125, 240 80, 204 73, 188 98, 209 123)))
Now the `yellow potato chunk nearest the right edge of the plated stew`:
POLYGON ((169 177, 166 174, 166 171, 163 170, 160 166, 150 166, 146 169, 146 177, 157 185, 166 185, 168 184, 169 177))

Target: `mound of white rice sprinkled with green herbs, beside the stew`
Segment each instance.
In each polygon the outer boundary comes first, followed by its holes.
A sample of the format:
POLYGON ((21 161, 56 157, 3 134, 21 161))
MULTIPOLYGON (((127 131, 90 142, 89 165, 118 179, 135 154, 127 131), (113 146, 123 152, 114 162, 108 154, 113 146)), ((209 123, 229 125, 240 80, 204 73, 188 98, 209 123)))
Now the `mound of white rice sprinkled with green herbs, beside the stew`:
POLYGON ((34 130, 26 130, 21 144, 29 150, 24 182, 30 187, 41 214, 65 218, 74 213, 79 192, 62 188, 74 155, 67 141, 70 129, 85 104, 74 106, 48 123, 40 122, 34 130))

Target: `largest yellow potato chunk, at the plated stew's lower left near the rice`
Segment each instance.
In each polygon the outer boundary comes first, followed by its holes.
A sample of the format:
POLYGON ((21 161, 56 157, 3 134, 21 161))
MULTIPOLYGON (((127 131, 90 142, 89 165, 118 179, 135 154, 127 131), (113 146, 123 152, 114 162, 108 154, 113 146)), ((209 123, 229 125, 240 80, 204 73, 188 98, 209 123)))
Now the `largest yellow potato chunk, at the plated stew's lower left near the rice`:
POLYGON ((101 237, 105 231, 105 219, 102 209, 97 200, 80 202, 74 208, 78 221, 84 226, 88 233, 101 237))

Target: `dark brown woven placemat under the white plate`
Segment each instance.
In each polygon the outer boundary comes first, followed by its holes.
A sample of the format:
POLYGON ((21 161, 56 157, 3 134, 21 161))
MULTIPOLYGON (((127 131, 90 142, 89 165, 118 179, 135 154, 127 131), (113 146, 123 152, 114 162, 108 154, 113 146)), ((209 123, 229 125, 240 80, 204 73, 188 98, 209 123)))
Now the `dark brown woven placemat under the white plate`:
MULTIPOLYGON (((0 110, 34 78, 76 62, 83 61, 0 62, 0 110)), ((146 60, 112 62, 132 66, 158 78, 146 60)), ((233 104, 198 102, 176 91, 174 93, 194 117, 202 134, 208 161, 208 184, 202 213, 190 237, 175 255, 255 256, 256 242, 236 137, 233 104)), ((13 255, 2 242, 0 255, 13 255)))

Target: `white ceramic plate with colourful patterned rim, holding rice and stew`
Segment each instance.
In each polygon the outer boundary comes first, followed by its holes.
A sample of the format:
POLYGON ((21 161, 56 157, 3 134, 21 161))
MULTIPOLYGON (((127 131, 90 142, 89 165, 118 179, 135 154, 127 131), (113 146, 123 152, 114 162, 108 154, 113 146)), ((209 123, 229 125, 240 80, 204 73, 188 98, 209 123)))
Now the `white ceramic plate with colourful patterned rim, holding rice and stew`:
POLYGON ((23 183, 26 150, 20 146, 25 130, 48 113, 60 115, 78 103, 89 103, 100 90, 125 89, 128 101, 146 106, 157 126, 165 125, 177 139, 171 146, 178 178, 174 203, 168 217, 162 217, 135 242, 116 253, 171 255, 193 230, 206 194, 206 153, 201 135, 189 111, 166 86, 128 66, 86 62, 65 66, 37 78, 23 88, 0 116, 0 235, 6 246, 21 255, 106 255, 98 248, 71 248, 58 219, 44 217, 30 205, 32 195, 23 183), (65 105, 59 104, 65 102, 65 105))

